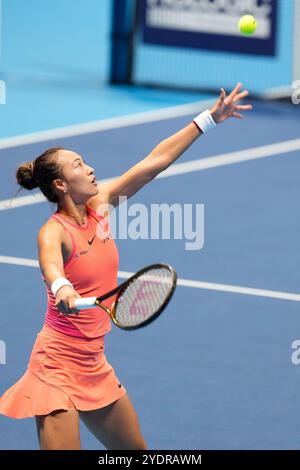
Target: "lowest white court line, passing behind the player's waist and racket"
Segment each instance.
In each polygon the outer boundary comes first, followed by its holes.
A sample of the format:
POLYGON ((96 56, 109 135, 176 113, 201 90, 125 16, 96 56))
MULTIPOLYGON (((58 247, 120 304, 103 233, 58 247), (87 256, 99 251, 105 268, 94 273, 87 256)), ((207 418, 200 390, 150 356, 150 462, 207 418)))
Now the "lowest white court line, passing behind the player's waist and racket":
MULTIPOLYGON (((17 266, 28 266, 38 268, 39 263, 34 259, 15 258, 12 256, 0 256, 0 264, 13 264, 17 266)), ((119 271, 118 277, 121 279, 128 279, 133 276, 133 272, 119 271)), ((216 284, 213 282, 193 281, 191 279, 178 279, 177 284, 184 287, 192 287, 194 289, 212 290, 216 292, 229 292, 231 294, 252 295, 255 297, 266 297, 279 300, 291 300, 300 302, 300 294, 293 294, 291 292, 280 292, 265 289, 255 289, 252 287, 233 286, 230 284, 216 284)))

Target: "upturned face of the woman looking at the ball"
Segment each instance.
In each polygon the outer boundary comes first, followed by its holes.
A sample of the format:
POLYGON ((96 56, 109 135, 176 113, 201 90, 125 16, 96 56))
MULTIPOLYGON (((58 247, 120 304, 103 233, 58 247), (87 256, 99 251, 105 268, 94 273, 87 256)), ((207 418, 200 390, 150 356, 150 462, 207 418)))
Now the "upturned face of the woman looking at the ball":
POLYGON ((62 168, 67 193, 75 203, 85 203, 98 194, 94 168, 87 165, 81 155, 71 150, 60 150, 58 164, 62 168))

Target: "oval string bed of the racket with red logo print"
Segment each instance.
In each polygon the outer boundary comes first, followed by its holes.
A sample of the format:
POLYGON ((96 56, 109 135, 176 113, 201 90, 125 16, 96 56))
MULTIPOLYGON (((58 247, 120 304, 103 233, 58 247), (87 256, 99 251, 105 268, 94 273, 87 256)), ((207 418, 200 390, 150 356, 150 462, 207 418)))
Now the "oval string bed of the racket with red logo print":
POLYGON ((135 278, 118 298, 116 320, 123 326, 139 325, 157 313, 174 283, 167 268, 151 269, 135 278))

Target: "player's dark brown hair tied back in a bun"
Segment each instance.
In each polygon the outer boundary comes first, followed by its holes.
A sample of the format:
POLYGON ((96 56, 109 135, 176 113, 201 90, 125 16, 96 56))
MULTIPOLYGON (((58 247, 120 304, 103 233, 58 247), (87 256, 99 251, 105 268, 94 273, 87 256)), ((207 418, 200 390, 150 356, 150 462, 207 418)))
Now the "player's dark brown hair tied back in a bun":
POLYGON ((31 162, 22 163, 16 171, 17 182, 22 188, 40 188, 44 196, 50 202, 58 202, 58 197, 53 189, 53 181, 62 178, 62 170, 55 158, 63 147, 53 147, 46 150, 31 162))

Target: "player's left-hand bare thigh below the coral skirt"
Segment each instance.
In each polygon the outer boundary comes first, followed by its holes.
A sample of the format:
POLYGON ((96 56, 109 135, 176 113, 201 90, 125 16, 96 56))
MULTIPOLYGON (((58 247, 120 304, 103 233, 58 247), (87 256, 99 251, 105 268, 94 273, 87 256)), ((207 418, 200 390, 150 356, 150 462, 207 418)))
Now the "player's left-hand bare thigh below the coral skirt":
POLYGON ((80 450, 78 411, 58 410, 46 416, 36 416, 41 450, 80 450))

